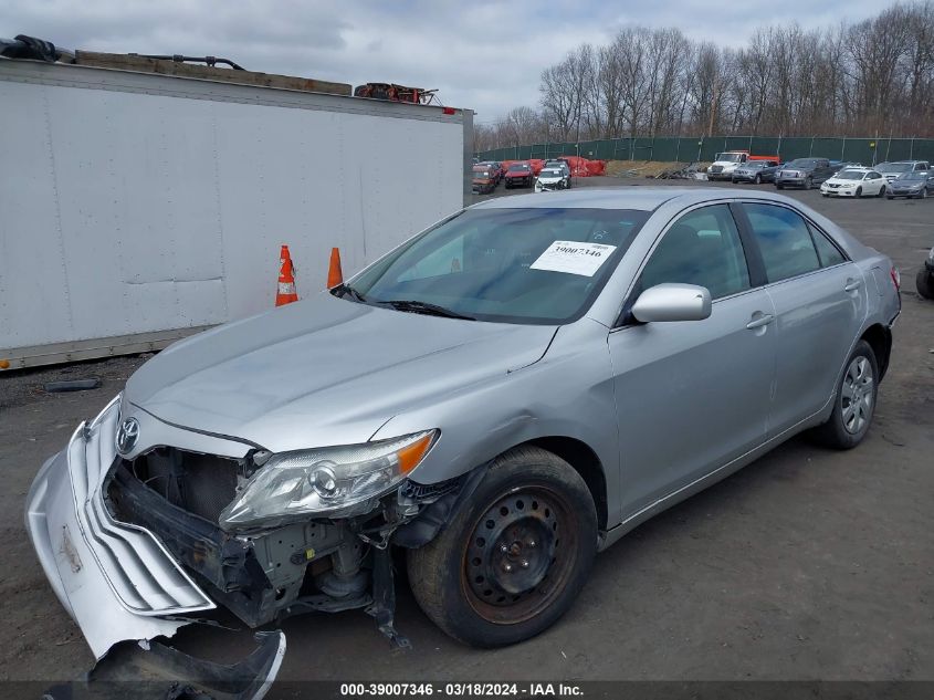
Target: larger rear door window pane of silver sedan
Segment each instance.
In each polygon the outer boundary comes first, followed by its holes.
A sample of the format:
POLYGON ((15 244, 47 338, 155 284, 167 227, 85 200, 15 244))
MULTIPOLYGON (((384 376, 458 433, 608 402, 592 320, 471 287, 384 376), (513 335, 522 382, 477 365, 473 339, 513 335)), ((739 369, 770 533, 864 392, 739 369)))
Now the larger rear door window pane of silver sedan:
POLYGON ((775 205, 747 203, 744 207, 759 243, 769 282, 820 269, 808 226, 799 215, 775 205))

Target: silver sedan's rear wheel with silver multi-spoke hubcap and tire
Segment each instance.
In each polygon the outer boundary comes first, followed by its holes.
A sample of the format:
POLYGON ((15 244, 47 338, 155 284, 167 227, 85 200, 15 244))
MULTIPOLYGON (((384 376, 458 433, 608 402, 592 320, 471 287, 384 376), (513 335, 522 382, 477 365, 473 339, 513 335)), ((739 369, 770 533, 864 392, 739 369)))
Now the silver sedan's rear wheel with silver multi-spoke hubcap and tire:
POLYGON ((826 424, 815 428, 814 437, 821 445, 833 449, 854 448, 862 442, 872 425, 878 393, 879 364, 875 353, 869 343, 859 341, 847 358, 843 375, 837 385, 833 412, 826 424), (854 391, 854 388, 858 390, 854 391))

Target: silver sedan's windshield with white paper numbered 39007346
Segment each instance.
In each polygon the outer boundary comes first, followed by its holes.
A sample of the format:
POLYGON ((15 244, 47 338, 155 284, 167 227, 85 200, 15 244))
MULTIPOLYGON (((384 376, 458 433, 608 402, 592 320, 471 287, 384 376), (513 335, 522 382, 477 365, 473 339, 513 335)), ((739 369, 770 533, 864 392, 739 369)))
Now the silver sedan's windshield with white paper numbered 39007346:
POLYGON ((465 210, 350 286, 375 305, 405 300, 480 321, 568 323, 584 315, 648 218, 615 209, 465 210))

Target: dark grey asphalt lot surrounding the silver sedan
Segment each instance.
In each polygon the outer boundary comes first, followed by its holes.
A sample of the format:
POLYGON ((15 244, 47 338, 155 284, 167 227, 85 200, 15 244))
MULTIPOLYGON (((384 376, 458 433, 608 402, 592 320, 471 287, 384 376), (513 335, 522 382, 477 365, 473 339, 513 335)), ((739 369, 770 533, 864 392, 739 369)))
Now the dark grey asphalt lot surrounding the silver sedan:
MULTIPOLYGON (((359 612, 293 618, 280 678, 934 680, 934 303, 914 293, 934 244, 934 201, 788 194, 902 270, 891 368, 863 445, 833 452, 796 438, 643 524, 598 557, 570 613, 525 644, 465 648, 431 625, 402 584, 397 620, 412 651, 391 649, 359 612)), ((494 196, 503 195, 500 187, 494 196)), ((0 680, 78 678, 94 662, 27 541, 23 500, 43 459, 141 362, 0 376, 0 680), (101 376, 104 386, 42 389, 78 376, 101 376)), ((176 639, 219 660, 251 648, 249 634, 201 627, 176 639)))

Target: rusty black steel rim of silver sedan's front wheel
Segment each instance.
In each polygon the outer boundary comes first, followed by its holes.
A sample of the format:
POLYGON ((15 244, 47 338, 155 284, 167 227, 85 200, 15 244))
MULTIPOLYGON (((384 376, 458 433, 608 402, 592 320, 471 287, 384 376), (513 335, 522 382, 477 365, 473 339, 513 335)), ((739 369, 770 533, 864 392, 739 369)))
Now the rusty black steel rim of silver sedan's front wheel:
POLYGON ((577 562, 578 533, 558 492, 521 487, 497 497, 464 547, 461 588, 486 621, 515 625, 545 610, 577 562))

